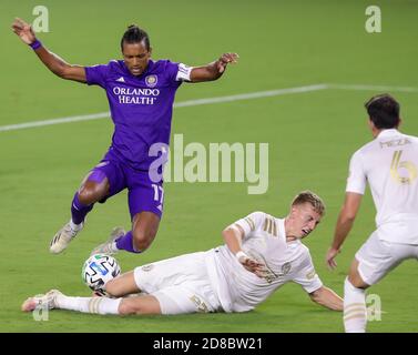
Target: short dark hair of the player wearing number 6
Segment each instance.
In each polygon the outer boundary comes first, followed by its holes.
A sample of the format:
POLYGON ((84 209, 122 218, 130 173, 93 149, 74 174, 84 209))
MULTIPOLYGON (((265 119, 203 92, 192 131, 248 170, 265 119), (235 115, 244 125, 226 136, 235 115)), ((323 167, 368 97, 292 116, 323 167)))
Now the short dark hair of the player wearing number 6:
POLYGON ((373 97, 366 102, 365 108, 377 129, 392 129, 399 125, 399 103, 389 94, 373 97))

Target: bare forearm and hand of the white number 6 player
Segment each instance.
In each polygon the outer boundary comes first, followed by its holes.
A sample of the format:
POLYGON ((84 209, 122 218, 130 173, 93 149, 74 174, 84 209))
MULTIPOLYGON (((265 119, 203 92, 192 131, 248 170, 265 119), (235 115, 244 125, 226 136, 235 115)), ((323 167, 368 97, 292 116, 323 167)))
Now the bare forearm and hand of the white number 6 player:
POLYGON ((337 266, 334 258, 340 252, 340 247, 353 227, 358 209, 360 207, 361 197, 363 195, 359 193, 346 193, 346 200, 344 201, 341 212, 339 213, 335 226, 334 241, 326 255, 326 262, 329 268, 335 268, 337 266))

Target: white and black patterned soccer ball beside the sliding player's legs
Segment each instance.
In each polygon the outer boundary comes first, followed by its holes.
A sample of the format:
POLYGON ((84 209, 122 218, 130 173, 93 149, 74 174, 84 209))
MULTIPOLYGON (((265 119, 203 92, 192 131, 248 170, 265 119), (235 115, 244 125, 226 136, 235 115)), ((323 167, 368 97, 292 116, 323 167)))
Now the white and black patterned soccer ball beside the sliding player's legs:
POLYGON ((90 256, 81 271, 83 282, 99 295, 106 295, 104 285, 121 273, 118 261, 106 254, 90 256))

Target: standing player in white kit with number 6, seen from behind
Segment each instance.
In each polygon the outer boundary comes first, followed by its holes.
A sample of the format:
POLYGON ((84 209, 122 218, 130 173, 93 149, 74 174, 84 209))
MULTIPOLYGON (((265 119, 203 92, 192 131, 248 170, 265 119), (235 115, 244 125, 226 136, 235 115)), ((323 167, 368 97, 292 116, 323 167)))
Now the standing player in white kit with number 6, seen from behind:
POLYGON ((376 205, 377 230, 357 252, 344 286, 344 325, 366 331, 365 290, 407 258, 418 258, 418 138, 400 133, 399 104, 388 94, 366 103, 375 140, 351 158, 346 200, 339 214, 327 263, 351 230, 367 181, 376 205))

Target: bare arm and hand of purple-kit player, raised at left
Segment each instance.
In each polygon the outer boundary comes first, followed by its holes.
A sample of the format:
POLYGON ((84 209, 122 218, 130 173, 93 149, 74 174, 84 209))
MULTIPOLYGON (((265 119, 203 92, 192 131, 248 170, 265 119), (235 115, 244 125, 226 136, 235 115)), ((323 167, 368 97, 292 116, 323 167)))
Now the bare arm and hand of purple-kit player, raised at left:
MULTIPOLYGON (((24 22, 22 19, 14 19, 12 23, 12 30, 20 39, 27 44, 33 44, 37 41, 32 27, 24 22)), ((40 45, 34 50, 42 63, 52 71, 55 75, 74 80, 79 82, 86 82, 84 67, 71 65, 57 54, 50 52, 43 45, 40 45)))

